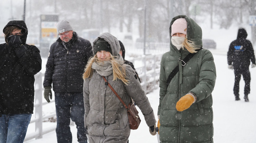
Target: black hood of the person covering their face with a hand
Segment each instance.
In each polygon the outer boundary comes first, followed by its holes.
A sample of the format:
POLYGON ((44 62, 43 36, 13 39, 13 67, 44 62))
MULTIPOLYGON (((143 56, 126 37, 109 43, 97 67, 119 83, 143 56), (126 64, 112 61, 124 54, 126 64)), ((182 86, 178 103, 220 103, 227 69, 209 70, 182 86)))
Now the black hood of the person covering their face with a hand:
POLYGON ((7 23, 6 26, 4 26, 3 28, 3 33, 4 33, 4 29, 8 26, 18 26, 22 29, 22 31, 24 32, 23 35, 20 36, 21 40, 23 43, 26 43, 27 41, 27 36, 28 36, 28 28, 26 26, 26 23, 23 20, 12 20, 10 22, 7 23))

